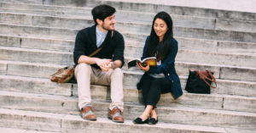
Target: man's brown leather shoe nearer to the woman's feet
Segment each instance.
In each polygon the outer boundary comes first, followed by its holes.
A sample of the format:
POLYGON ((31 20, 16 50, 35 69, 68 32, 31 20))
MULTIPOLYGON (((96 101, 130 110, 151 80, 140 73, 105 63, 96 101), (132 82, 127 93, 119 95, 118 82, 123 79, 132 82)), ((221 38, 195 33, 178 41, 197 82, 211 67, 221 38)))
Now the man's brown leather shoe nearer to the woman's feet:
POLYGON ((108 119, 112 119, 113 122, 119 123, 124 123, 125 121, 124 117, 122 116, 121 109, 119 108, 113 108, 112 110, 109 110, 108 119))

